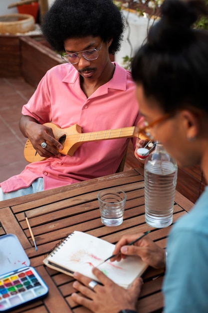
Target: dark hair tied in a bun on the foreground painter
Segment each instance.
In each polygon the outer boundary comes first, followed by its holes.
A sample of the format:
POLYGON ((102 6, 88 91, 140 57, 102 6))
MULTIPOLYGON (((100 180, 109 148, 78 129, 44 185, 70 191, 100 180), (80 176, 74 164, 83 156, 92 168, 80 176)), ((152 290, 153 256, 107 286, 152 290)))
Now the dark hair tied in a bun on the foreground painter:
POLYGON ((193 28, 202 15, 208 15, 204 0, 165 0, 133 59, 133 79, 164 112, 190 105, 208 112, 208 31, 193 28))

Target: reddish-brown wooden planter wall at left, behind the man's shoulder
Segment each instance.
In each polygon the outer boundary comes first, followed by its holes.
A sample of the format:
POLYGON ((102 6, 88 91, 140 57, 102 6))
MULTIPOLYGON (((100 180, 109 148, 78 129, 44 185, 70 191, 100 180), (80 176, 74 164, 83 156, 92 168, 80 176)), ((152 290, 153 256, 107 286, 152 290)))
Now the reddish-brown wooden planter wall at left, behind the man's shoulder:
POLYGON ((37 86, 49 68, 64 62, 41 39, 41 36, 0 35, 0 77, 23 76, 37 86))

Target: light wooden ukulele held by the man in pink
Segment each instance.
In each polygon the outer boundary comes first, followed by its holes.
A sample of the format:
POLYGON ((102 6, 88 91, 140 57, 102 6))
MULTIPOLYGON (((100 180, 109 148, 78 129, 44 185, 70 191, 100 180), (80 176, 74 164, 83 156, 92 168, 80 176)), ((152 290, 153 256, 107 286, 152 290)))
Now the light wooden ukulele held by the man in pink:
MULTIPOLYGON (((53 123, 44 123, 44 125, 52 128, 55 139, 63 145, 63 149, 59 152, 70 156, 84 142, 139 137, 139 129, 136 126, 82 133, 82 128, 78 124, 63 129, 53 123)), ((29 139, 24 146, 24 157, 29 163, 46 159, 37 153, 29 139)))

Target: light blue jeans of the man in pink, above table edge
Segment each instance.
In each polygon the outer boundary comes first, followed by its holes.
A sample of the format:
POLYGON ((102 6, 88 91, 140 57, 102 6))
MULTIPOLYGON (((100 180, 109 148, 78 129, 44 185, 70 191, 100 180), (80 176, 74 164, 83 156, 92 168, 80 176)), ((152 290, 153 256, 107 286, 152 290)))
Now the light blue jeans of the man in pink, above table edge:
POLYGON ((11 192, 3 192, 0 188, 0 201, 15 198, 17 196, 43 191, 43 178, 37 178, 27 188, 21 188, 11 192))

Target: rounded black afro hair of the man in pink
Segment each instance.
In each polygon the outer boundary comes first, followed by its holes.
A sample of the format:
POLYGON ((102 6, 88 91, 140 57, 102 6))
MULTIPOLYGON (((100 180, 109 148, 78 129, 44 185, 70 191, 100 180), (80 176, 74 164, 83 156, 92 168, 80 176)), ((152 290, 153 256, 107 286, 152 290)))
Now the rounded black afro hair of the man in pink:
POLYGON ((41 30, 57 51, 64 40, 92 35, 104 42, 113 38, 109 53, 120 49, 125 28, 124 17, 112 0, 55 0, 46 12, 41 30))

